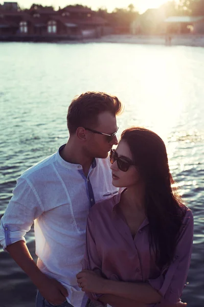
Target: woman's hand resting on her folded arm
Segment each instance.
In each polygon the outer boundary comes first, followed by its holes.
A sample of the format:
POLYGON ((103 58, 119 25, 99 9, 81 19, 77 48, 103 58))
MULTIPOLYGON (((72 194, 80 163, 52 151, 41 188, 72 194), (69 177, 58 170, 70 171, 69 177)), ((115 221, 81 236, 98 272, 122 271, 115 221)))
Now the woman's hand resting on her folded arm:
POLYGON ((77 275, 79 287, 84 292, 103 293, 105 279, 94 271, 82 270, 77 275))

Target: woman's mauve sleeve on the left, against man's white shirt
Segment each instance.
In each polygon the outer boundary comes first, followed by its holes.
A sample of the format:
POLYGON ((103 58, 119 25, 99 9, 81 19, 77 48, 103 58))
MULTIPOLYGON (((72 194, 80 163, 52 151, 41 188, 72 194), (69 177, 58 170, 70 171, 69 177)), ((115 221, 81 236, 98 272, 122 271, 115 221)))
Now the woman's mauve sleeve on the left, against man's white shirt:
MULTIPOLYGON (((87 218, 87 226, 86 226, 86 248, 85 248, 83 269, 95 271, 98 275, 103 276, 101 268, 102 268, 102 262, 100 260, 100 257, 99 257, 99 254, 96 248, 94 232, 92 228, 92 220, 89 214, 87 218)), ((92 301, 97 301, 102 306, 106 305, 98 301, 98 299, 103 294, 96 294, 96 293, 89 292, 89 293, 86 293, 86 295, 92 301)))

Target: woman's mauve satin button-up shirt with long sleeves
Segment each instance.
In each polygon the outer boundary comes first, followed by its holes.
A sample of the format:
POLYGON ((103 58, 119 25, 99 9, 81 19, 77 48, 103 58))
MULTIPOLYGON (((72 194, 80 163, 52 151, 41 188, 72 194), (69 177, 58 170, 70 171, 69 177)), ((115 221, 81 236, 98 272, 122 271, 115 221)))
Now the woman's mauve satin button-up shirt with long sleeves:
MULTIPOLYGON (((84 268, 108 279, 148 282, 161 295, 166 306, 177 302, 185 287, 193 242, 193 215, 187 208, 171 265, 160 270, 149 250, 149 222, 146 218, 134 239, 117 205, 120 195, 100 202, 90 210, 86 228, 84 268)), ((97 299, 98 295, 89 294, 97 299)))

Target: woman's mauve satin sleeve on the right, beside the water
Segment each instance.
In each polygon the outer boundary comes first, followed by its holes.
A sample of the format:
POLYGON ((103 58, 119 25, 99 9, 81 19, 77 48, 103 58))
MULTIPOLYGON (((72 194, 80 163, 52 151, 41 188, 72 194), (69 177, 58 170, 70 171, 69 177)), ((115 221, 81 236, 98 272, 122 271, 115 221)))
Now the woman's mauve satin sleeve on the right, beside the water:
POLYGON ((149 306, 165 307, 175 304, 185 287, 193 245, 193 214, 187 209, 176 245, 174 260, 158 278, 148 279, 150 285, 162 295, 160 303, 149 306))

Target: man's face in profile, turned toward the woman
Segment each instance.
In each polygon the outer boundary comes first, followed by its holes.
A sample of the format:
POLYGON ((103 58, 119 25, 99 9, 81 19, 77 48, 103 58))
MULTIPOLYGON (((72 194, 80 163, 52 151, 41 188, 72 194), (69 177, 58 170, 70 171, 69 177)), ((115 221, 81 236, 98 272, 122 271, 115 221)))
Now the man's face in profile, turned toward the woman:
MULTIPOLYGON (((110 112, 101 113, 98 116, 98 123, 93 129, 108 135, 115 133, 117 131, 116 116, 110 112)), ((96 134, 88 130, 86 130, 86 133, 86 151, 93 158, 107 158, 112 146, 118 144, 116 136, 108 143, 107 136, 105 135, 96 134)))

